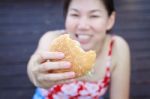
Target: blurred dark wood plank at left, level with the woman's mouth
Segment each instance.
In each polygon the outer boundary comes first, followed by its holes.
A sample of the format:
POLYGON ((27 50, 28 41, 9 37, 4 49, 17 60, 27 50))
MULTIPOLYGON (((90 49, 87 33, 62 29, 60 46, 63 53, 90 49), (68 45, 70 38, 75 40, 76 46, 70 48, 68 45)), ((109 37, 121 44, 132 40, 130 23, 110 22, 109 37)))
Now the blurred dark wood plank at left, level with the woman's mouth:
MULTIPOLYGON (((43 33, 44 34, 44 33, 43 33)), ((19 46, 22 44, 37 44, 43 34, 36 33, 4 33, 0 34, 0 46, 19 46)))

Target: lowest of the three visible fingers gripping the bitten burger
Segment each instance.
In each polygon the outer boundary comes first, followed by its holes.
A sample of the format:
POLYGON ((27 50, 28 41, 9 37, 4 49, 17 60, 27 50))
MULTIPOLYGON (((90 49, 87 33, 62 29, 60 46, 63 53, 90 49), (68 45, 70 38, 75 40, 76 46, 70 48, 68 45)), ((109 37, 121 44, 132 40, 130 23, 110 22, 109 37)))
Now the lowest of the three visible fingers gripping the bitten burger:
POLYGON ((65 73, 54 73, 54 74, 41 74, 38 77, 39 81, 51 82, 51 81, 60 81, 65 79, 71 79, 75 77, 74 72, 65 72, 65 73))

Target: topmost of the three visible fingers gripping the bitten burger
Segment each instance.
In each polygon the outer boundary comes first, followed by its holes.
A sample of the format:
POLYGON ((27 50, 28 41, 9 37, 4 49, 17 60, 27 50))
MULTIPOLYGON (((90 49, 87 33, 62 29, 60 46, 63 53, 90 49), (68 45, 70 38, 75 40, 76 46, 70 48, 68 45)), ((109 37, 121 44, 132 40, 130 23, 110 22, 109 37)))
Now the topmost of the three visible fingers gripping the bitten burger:
POLYGON ((39 63, 42 63, 45 60, 49 60, 49 59, 64 58, 64 53, 62 53, 62 52, 38 52, 37 55, 39 56, 39 58, 38 58, 39 63))

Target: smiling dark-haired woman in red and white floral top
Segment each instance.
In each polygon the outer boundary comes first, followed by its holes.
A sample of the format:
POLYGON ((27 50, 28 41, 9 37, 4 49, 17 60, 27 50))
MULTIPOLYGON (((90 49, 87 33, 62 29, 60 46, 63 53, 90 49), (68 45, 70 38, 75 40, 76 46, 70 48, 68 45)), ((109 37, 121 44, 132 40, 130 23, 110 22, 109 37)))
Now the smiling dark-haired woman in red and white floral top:
POLYGON ((122 37, 110 34, 115 22, 113 0, 66 0, 64 14, 65 30, 45 33, 28 63, 29 78, 39 87, 34 99, 97 99, 109 85, 110 99, 129 99, 130 52, 122 37), (85 51, 92 49, 97 54, 91 75, 77 78, 77 82, 70 80, 74 72, 47 73, 71 67, 67 61, 46 61, 64 57, 61 52, 48 51, 51 41, 63 33, 79 41, 85 51))

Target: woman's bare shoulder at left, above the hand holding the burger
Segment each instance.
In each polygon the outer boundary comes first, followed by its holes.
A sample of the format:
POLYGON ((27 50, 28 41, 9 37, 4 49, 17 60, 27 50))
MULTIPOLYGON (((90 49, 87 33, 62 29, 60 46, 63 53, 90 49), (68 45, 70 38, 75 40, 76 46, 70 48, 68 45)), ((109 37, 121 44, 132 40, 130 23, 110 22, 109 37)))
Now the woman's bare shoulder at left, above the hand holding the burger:
POLYGON ((48 31, 39 40, 38 50, 48 50, 50 43, 59 35, 64 34, 64 30, 48 31))

